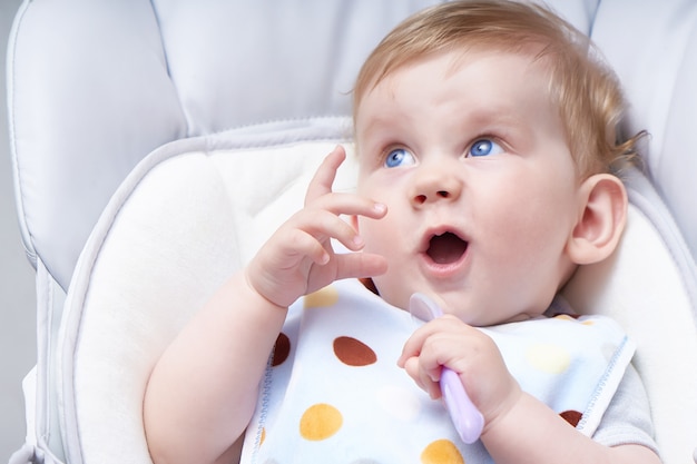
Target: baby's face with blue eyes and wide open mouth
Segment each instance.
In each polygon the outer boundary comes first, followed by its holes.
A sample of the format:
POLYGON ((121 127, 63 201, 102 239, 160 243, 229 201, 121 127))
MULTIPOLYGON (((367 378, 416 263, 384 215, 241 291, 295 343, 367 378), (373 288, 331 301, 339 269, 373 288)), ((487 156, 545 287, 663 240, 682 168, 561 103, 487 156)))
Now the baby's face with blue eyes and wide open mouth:
POLYGON ((473 325, 547 309, 573 265, 566 245, 579 180, 543 65, 470 51, 403 67, 360 102, 359 194, 387 205, 356 219, 387 258, 381 296, 414 292, 473 325))

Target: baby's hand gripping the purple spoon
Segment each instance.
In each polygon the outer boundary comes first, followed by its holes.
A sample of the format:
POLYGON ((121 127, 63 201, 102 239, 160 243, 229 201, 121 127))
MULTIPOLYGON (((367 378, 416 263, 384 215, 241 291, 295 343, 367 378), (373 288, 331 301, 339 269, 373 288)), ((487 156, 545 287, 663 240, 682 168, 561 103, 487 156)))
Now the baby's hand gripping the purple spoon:
POLYGON ((484 431, 521 397, 520 386, 493 340, 452 315, 433 319, 414 332, 397 364, 432 398, 441 397, 439 381, 443 366, 454 371, 484 416, 484 431))

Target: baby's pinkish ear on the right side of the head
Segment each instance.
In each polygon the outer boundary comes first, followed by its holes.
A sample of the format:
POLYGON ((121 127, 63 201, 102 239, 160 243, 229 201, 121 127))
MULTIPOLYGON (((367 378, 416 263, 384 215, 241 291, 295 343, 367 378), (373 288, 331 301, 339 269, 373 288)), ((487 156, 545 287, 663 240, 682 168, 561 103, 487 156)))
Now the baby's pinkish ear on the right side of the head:
POLYGON ((589 177, 579 188, 579 217, 567 251, 576 264, 598 263, 612 254, 627 221, 627 191, 609 174, 589 177))

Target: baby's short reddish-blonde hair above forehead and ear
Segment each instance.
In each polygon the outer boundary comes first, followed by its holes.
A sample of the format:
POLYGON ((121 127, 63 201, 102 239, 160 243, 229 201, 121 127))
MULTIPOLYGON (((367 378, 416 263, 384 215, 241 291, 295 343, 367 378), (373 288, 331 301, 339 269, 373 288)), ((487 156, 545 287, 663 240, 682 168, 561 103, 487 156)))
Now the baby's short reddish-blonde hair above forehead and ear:
POLYGON ((428 8, 390 32, 364 62, 354 88, 354 119, 366 92, 401 67, 440 52, 470 49, 527 53, 544 60, 580 177, 634 157, 642 136, 620 141, 625 99, 590 39, 549 10, 503 0, 453 1, 428 8))

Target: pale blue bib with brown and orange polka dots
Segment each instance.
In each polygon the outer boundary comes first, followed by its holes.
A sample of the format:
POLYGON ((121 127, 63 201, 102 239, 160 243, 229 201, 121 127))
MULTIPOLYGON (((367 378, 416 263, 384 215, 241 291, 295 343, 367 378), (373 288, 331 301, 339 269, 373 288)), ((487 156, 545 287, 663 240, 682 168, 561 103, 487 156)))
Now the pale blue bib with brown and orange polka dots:
MULTIPOLYGON (((397 367, 416 328, 357 280, 293 305, 261 385, 243 463, 491 463, 462 443, 444 405, 397 367)), ((482 328, 521 388, 588 436, 634 346, 611 319, 540 317, 482 328)), ((524 425, 524 424, 521 424, 524 425)))

